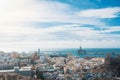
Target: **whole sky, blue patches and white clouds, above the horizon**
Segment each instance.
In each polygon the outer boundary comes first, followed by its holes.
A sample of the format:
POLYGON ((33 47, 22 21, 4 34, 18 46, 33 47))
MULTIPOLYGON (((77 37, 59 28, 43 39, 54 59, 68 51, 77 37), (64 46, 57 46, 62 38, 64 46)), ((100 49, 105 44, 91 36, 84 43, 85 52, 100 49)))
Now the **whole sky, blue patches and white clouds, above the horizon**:
POLYGON ((120 48, 120 0, 0 0, 0 50, 120 48))

